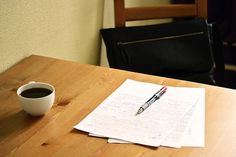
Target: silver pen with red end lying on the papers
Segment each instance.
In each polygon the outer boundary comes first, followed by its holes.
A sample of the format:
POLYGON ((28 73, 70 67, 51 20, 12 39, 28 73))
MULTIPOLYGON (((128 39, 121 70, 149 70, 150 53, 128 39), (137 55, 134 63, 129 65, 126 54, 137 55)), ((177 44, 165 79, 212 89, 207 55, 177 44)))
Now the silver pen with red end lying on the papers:
POLYGON ((148 101, 146 101, 139 109, 136 115, 142 113, 146 110, 151 104, 153 104, 156 100, 158 100, 165 92, 167 88, 166 86, 162 87, 159 91, 157 91, 148 101))

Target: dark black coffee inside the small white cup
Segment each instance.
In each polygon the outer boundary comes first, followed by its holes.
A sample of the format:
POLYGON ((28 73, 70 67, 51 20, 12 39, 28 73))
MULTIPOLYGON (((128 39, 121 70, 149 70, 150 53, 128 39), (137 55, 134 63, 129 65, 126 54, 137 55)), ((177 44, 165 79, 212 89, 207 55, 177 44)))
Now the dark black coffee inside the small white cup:
POLYGON ((51 94, 52 91, 46 88, 30 88, 24 90, 20 95, 26 98, 40 98, 51 94))

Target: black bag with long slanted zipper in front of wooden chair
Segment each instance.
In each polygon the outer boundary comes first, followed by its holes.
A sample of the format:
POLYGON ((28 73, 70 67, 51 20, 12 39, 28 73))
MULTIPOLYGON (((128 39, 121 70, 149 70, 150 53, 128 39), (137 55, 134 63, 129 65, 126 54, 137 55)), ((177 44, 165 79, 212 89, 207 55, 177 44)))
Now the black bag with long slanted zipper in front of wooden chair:
POLYGON ((214 84, 203 19, 101 30, 112 68, 214 84))

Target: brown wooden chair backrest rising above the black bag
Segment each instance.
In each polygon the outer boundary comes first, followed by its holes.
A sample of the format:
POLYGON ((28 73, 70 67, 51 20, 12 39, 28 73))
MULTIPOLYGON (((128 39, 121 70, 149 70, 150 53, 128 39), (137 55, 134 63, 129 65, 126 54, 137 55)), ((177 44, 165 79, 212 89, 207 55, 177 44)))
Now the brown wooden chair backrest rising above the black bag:
POLYGON ((125 0, 114 0, 115 27, 125 27, 126 21, 160 18, 207 18, 207 0, 195 0, 193 4, 165 4, 150 7, 125 7, 125 0))

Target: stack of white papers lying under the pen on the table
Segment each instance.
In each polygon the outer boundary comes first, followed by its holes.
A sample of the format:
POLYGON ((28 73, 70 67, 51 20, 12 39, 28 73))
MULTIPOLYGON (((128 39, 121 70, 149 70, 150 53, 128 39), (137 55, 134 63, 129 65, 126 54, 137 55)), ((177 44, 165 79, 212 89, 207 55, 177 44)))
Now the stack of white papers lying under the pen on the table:
POLYGON ((205 89, 167 87, 167 92, 136 115, 160 85, 126 80, 75 126, 111 143, 148 146, 204 146, 205 89))

